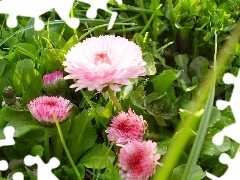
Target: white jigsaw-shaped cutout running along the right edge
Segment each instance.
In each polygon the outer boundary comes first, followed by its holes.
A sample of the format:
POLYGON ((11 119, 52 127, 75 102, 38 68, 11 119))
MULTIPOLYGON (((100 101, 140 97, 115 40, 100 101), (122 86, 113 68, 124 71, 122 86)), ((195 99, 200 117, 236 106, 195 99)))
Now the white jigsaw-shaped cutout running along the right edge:
MULTIPOLYGON (((216 106, 219 110, 223 110, 230 106, 233 116, 235 118, 235 123, 223 128, 220 132, 213 136, 213 143, 220 146, 224 137, 229 137, 230 139, 236 141, 240 144, 240 110, 239 110, 239 99, 240 99, 240 70, 238 71, 238 76, 235 77, 230 73, 226 73, 223 76, 223 82, 225 84, 234 84, 233 92, 230 101, 218 100, 216 106)), ((237 151, 235 157, 231 159, 226 153, 222 153, 219 157, 219 161, 222 164, 227 164, 227 171, 221 176, 216 177, 208 172, 206 175, 212 180, 239 180, 240 178, 240 150, 237 151)))

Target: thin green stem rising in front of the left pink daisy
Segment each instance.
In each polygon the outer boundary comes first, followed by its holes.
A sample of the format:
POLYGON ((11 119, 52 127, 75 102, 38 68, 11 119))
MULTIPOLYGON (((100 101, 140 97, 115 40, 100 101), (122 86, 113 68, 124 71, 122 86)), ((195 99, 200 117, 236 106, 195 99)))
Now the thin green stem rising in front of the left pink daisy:
POLYGON ((55 124, 56 124, 56 126, 57 126, 58 134, 59 134, 59 136, 60 136, 60 139, 61 139, 63 148, 64 148, 64 150, 65 150, 65 152, 66 152, 66 154, 67 154, 68 160, 69 160, 70 164, 72 165, 73 170, 75 171, 75 174, 77 175, 78 179, 81 180, 81 179, 82 179, 82 178, 81 178, 81 175, 80 175, 80 173, 78 172, 77 167, 75 166, 75 164, 74 164, 74 162, 73 162, 73 160, 72 160, 72 157, 71 157, 71 155, 70 155, 70 153, 69 153, 69 150, 68 150, 68 148, 67 148, 67 145, 66 145, 66 143, 65 143, 65 140, 64 140, 64 138, 63 138, 62 130, 61 130, 60 126, 59 126, 57 117, 55 116, 54 113, 52 114, 52 116, 53 116, 53 120, 54 120, 54 122, 55 122, 55 124))

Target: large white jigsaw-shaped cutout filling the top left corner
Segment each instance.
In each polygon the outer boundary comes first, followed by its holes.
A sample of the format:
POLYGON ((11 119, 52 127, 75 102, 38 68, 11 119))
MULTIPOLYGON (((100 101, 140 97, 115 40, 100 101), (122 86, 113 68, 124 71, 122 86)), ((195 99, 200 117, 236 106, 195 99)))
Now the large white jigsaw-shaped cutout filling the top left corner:
POLYGON ((18 24, 17 16, 25 16, 34 18, 35 30, 41 30, 44 23, 39 16, 55 9, 68 26, 77 28, 80 21, 77 18, 69 17, 73 3, 74 0, 2 0, 0 1, 0 13, 9 14, 8 27, 16 27, 18 24))

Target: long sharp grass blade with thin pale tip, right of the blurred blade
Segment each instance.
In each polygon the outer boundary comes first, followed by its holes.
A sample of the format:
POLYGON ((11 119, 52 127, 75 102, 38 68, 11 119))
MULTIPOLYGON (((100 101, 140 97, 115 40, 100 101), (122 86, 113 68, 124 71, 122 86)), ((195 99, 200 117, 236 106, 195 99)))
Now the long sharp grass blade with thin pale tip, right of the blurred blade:
POLYGON ((182 176, 182 180, 191 180, 192 179, 192 172, 194 170, 194 168, 196 167, 197 164, 197 160, 199 157, 199 154, 201 152, 202 149, 202 145, 204 142, 204 138, 207 132, 207 128, 208 128, 208 124, 209 124, 209 120, 211 117, 211 113, 212 113, 212 106, 213 106, 213 101, 214 101, 214 94, 215 94, 215 81, 216 81, 216 58, 217 58, 217 34, 215 31, 215 54, 214 54, 214 74, 213 74, 213 79, 212 79, 212 85, 211 85, 211 89, 209 92, 209 96, 204 108, 204 113, 199 125, 199 129, 197 131, 197 136, 196 139, 193 143, 193 147, 192 150, 190 152, 188 161, 187 161, 187 165, 186 168, 184 170, 183 176, 182 176))

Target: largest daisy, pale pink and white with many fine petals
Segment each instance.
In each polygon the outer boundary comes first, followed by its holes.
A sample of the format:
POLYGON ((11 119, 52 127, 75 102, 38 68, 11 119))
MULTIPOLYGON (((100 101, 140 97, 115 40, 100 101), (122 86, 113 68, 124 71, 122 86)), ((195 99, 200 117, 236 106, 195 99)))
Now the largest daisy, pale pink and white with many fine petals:
POLYGON ((109 87, 120 91, 119 85, 145 76, 145 62, 140 47, 123 37, 100 36, 87 38, 72 47, 66 55, 65 79, 76 79, 71 88, 102 91, 109 87))

